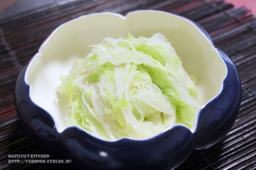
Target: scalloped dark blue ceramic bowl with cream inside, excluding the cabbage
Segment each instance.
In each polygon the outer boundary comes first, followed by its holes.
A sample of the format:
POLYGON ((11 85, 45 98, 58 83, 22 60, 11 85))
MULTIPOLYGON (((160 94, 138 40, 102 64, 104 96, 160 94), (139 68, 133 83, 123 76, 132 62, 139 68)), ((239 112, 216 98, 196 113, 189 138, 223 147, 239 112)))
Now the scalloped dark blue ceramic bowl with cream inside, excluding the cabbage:
POLYGON ((235 122, 241 103, 241 81, 231 60, 215 48, 209 35, 193 21, 161 11, 95 13, 71 20, 54 30, 17 78, 15 104, 20 120, 42 149, 72 159, 78 169, 174 169, 192 150, 219 142, 235 122), (183 67, 197 78, 202 107, 191 129, 175 124, 145 140, 106 141, 77 126, 67 126, 67 111, 56 88, 74 59, 106 37, 167 36, 183 67), (64 115, 64 116, 63 116, 64 115))

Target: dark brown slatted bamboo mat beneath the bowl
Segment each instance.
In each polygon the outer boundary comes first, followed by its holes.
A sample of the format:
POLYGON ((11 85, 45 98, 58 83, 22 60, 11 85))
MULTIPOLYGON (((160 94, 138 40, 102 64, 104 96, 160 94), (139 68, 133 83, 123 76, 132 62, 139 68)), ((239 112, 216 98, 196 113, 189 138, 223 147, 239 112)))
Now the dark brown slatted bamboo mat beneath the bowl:
MULTIPOLYGON (((200 24, 236 65, 243 84, 241 109, 229 134, 194 153, 178 170, 256 169, 256 19, 222 0, 75 0, 51 4, 0 21, 0 169, 74 169, 70 164, 8 163, 8 154, 48 154, 24 132, 13 90, 22 66, 60 24, 95 12, 125 15, 138 9, 176 13, 200 24)), ((64 159, 50 155, 48 159, 64 159)))

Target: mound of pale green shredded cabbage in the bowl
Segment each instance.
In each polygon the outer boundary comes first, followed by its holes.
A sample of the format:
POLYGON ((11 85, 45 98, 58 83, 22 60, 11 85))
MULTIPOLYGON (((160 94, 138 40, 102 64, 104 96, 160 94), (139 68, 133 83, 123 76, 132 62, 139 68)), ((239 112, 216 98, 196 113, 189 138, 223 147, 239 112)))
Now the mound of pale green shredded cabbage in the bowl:
POLYGON ((116 140, 145 139, 173 124, 191 127, 200 105, 197 87, 168 39, 103 39, 75 60, 57 91, 69 98, 68 125, 116 140))

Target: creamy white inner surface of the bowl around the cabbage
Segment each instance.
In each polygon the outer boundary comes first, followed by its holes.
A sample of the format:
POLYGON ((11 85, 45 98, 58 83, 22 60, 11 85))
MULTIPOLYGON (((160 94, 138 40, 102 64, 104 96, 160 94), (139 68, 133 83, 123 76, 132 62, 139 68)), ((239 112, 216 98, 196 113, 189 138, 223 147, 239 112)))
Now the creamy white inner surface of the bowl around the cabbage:
POLYGON ((85 15, 56 28, 26 71, 32 101, 52 115, 59 132, 65 130, 68 113, 66 104, 58 101, 56 88, 74 59, 84 58, 91 52, 89 45, 107 37, 126 38, 128 33, 151 37, 157 32, 169 39, 186 72, 196 76, 201 104, 214 98, 222 90, 227 68, 211 41, 190 20, 165 12, 136 11, 125 17, 116 13, 85 15))

